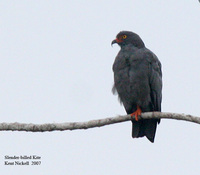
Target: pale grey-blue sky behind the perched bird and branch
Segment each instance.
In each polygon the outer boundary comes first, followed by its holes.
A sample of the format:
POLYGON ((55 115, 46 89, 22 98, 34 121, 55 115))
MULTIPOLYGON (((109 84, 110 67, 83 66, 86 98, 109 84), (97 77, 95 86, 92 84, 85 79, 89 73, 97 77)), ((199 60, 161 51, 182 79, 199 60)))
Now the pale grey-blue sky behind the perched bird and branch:
MULTIPOLYGON (((121 30, 162 62, 164 112, 200 116, 197 0, 1 0, 0 122, 87 121, 125 114, 111 93, 121 30)), ((65 132, 0 132, 1 174, 200 174, 199 125, 162 120, 155 143, 131 123, 65 132), (40 166, 4 166, 38 155, 40 166)))

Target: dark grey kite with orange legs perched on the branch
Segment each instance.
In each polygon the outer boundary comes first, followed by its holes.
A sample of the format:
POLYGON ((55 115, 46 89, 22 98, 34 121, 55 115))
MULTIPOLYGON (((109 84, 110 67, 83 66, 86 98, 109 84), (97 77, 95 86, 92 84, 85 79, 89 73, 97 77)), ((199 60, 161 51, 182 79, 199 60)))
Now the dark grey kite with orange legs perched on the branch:
POLYGON ((136 33, 122 31, 111 44, 115 43, 121 50, 113 64, 113 93, 118 94, 127 114, 135 117, 132 120, 132 137, 146 136, 153 143, 160 120, 138 120, 138 115, 161 111, 161 63, 136 33))

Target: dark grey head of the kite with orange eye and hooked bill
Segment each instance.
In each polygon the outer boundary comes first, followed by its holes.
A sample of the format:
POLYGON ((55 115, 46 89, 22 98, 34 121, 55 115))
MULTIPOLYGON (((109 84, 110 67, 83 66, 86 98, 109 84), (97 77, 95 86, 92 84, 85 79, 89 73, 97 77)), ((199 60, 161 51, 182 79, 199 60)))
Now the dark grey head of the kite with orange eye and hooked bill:
POLYGON ((116 39, 114 39, 111 45, 117 43, 120 47, 128 44, 132 44, 137 48, 145 47, 142 39, 136 33, 130 31, 121 31, 117 34, 116 39))

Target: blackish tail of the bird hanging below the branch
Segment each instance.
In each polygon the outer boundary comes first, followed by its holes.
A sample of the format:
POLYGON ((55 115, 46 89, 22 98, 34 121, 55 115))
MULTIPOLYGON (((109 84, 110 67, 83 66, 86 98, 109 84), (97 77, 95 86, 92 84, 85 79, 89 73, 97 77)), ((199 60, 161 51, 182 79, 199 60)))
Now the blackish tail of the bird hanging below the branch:
POLYGON ((154 142, 156 127, 160 122, 158 119, 142 119, 139 121, 132 121, 132 137, 138 138, 146 136, 150 142, 154 142))

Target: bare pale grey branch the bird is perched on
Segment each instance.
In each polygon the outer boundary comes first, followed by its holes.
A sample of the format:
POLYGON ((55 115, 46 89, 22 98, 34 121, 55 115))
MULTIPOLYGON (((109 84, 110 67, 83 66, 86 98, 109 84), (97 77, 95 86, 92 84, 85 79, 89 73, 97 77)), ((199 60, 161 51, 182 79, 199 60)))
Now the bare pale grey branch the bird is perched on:
MULTIPOLYGON (((200 124, 200 117, 192 115, 167 113, 167 112, 145 112, 142 113, 140 119, 176 119, 194 122, 200 124)), ((114 123, 120 123, 131 120, 130 115, 117 116, 99 120, 91 120, 88 122, 71 122, 71 123, 47 123, 47 124, 25 124, 25 123, 0 123, 0 131, 28 131, 28 132, 45 132, 45 131, 64 131, 75 129, 88 129, 101 127, 114 123)))

